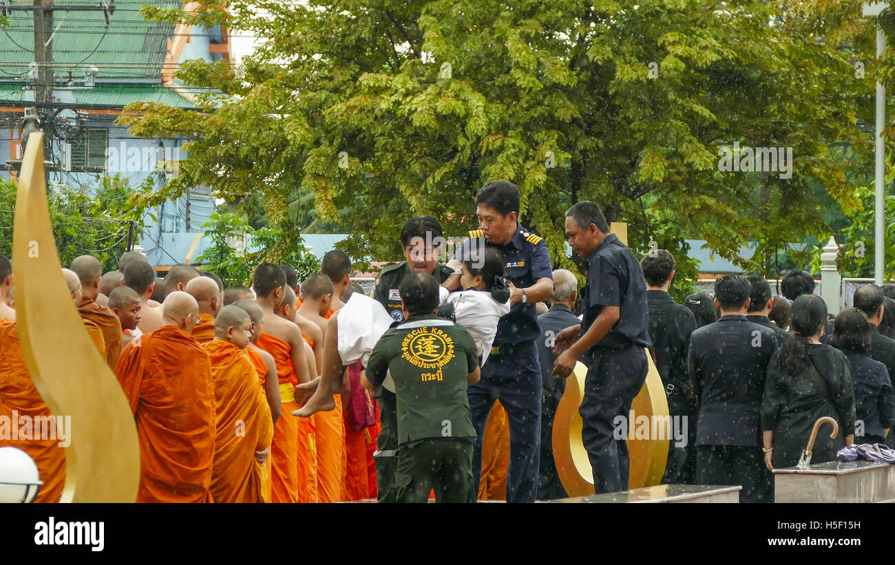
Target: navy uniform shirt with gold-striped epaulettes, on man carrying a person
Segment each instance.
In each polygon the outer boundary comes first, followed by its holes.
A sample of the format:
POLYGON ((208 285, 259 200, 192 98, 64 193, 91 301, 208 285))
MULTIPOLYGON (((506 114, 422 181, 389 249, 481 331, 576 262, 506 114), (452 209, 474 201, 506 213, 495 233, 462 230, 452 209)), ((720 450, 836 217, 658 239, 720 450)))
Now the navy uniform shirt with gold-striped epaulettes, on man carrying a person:
MULTIPOLYGON (((468 250, 482 249, 482 245, 500 251, 504 260, 504 276, 507 282, 512 282, 517 288, 528 288, 538 282, 538 279, 553 279, 547 244, 526 230, 521 223, 516 222, 516 235, 507 245, 496 245, 485 240, 482 230, 469 232, 469 239, 460 244, 460 249, 457 249, 454 258, 463 260, 468 250)), ((540 336, 541 329, 538 326, 538 313, 534 303, 516 302, 510 308, 509 314, 500 318, 494 346, 533 342, 540 336)))

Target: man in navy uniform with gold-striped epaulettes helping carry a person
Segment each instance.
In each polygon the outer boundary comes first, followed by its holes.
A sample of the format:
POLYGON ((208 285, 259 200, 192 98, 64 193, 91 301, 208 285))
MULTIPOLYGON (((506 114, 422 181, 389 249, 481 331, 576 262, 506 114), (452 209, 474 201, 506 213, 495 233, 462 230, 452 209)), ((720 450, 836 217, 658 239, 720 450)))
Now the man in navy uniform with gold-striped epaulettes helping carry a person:
MULTIPOLYGON (((478 488, 482 476, 482 436, 496 399, 509 417, 509 468, 507 502, 534 502, 538 493, 541 448, 541 365, 537 341, 541 338, 534 303, 552 298, 553 279, 547 244, 517 221, 519 190, 512 182, 491 181, 475 197, 475 215, 481 229, 470 232, 454 256, 463 260, 483 247, 498 249, 510 282, 509 314, 500 318, 482 381, 470 385, 469 405, 478 434, 473 473, 478 488)), ((460 274, 445 282, 460 286, 460 274)))

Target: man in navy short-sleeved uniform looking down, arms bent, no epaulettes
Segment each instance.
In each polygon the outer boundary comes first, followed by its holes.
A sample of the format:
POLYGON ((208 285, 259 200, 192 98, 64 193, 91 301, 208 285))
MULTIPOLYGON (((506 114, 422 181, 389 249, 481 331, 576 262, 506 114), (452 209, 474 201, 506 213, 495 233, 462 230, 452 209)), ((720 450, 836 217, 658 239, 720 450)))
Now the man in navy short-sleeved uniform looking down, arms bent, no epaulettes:
MULTIPOLYGON (((609 233, 606 218, 593 202, 579 202, 567 210, 566 237, 573 253, 589 257, 587 284, 582 291, 582 323, 558 334, 556 350, 562 354, 553 372, 568 376, 584 354, 588 369, 578 411, 593 490, 617 493, 627 490, 628 457, 626 440, 616 440, 615 429, 618 421, 627 421, 649 370, 645 348, 652 342, 646 281, 637 257, 609 233)), ((628 422, 622 437, 633 424, 628 422)))

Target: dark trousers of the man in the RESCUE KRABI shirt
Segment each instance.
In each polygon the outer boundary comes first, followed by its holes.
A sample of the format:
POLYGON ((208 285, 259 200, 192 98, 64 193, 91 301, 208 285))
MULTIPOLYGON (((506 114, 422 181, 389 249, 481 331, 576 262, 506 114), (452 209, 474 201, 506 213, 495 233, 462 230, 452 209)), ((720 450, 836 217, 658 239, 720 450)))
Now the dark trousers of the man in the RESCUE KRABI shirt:
POLYGON ((397 452, 397 502, 475 502, 473 442, 420 440, 405 443, 397 452))

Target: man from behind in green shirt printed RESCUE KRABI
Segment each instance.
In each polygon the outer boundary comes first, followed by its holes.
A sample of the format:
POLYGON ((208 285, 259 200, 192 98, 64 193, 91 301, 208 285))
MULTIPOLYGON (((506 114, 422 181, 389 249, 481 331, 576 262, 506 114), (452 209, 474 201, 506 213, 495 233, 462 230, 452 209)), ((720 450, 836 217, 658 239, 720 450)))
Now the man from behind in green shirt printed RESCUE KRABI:
POLYGON ((367 365, 371 383, 396 394, 397 502, 426 502, 431 489, 436 502, 475 502, 476 434, 466 397, 466 384, 480 378, 473 338, 437 315, 432 275, 408 274, 399 291, 405 322, 382 334, 367 365))

